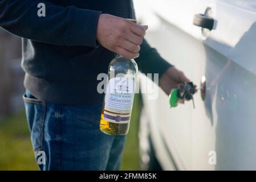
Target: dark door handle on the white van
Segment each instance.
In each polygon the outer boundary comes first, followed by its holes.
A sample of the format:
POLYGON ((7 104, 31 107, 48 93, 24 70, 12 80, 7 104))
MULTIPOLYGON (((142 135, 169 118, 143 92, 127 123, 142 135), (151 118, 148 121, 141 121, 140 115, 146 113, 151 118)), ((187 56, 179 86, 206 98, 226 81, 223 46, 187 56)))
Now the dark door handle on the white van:
POLYGON ((213 30, 214 19, 204 14, 194 15, 193 24, 198 27, 213 30))

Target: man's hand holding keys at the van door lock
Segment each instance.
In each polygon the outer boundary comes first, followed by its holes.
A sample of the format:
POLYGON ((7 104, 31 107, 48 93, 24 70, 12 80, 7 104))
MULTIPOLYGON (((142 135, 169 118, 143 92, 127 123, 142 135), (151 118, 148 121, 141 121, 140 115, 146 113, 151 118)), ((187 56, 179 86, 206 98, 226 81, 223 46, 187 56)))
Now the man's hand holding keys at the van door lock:
MULTIPOLYGON (((175 67, 170 67, 164 72, 164 75, 161 76, 159 86, 167 95, 169 95, 170 90, 178 88, 178 85, 182 85, 185 82, 189 83, 189 78, 187 78, 183 72, 179 71, 175 67)), ((195 91, 197 91, 196 85, 195 91)))

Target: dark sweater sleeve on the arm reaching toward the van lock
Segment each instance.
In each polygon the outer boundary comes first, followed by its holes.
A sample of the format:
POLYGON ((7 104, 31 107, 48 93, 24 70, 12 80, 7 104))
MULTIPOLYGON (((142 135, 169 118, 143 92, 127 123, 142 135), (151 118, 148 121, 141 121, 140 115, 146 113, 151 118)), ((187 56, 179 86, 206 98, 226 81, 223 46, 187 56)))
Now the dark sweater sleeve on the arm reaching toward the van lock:
POLYGON ((172 67, 172 64, 164 60, 155 48, 149 46, 145 39, 141 44, 140 56, 135 61, 141 72, 145 74, 158 73, 159 78, 169 67, 172 67))

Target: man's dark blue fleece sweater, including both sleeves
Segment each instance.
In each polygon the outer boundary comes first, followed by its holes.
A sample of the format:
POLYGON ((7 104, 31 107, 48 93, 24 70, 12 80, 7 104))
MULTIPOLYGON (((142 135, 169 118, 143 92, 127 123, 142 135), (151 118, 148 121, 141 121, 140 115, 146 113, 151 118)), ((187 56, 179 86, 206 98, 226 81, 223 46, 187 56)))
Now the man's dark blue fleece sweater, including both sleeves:
MULTIPOLYGON (((0 27, 22 37, 25 87, 54 104, 97 104, 97 75, 107 73, 115 53, 97 45, 101 13, 135 18, 131 0, 0 0, 0 27), (38 16, 38 4, 46 16, 38 16)), ((170 64, 144 40, 136 59, 144 73, 165 72, 170 64)))

